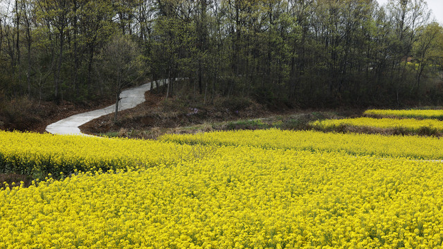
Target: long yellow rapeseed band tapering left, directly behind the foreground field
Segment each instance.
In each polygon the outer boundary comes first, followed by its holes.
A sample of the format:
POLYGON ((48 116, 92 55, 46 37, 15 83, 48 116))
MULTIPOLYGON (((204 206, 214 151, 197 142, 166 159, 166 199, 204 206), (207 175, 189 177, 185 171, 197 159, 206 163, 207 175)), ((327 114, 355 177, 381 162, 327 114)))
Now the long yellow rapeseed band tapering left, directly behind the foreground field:
POLYGON ((181 144, 248 145, 263 148, 343 151, 352 155, 443 159, 443 140, 421 136, 323 133, 320 131, 244 130, 167 134, 163 141, 181 144))

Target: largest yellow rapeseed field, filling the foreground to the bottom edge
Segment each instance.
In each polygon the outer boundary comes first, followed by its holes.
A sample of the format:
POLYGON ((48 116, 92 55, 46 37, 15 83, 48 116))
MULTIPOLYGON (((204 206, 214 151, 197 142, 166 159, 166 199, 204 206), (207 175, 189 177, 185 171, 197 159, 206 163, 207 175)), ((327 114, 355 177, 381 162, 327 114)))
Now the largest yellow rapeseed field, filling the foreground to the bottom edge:
POLYGON ((443 163, 221 147, 0 191, 0 248, 442 248, 443 163))

